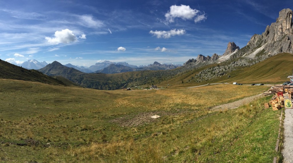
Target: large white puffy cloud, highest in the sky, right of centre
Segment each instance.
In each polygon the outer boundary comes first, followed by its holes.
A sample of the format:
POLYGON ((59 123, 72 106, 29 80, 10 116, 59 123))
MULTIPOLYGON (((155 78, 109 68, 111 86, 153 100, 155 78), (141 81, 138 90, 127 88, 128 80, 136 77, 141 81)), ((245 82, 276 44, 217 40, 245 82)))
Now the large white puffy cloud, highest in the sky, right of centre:
POLYGON ((205 14, 197 9, 192 9, 190 6, 181 5, 176 6, 173 5, 170 7, 170 11, 165 14, 167 22, 174 22, 175 18, 181 18, 183 20, 191 20, 194 19, 195 23, 207 19, 205 14))

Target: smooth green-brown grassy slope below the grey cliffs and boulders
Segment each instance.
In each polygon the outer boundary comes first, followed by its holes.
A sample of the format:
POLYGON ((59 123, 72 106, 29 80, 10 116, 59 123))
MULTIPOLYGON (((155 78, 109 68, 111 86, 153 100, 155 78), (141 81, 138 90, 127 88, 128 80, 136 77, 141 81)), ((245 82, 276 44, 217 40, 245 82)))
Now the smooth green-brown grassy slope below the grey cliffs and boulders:
MULTIPOLYGON (((226 64, 226 63, 223 63, 226 64)), ((229 72, 221 77, 214 78, 212 80, 204 81, 197 83, 195 74, 199 73, 202 70, 205 70, 209 67, 217 66, 207 65, 195 70, 189 70, 181 74, 175 75, 171 80, 164 81, 161 83, 162 86, 167 84, 175 85, 179 87, 188 87, 195 85, 202 85, 207 83, 232 83, 238 82, 243 84, 252 84, 252 83, 283 83, 288 81, 287 76, 292 75, 293 69, 293 55, 290 53, 281 53, 275 56, 272 56, 260 63, 252 65, 250 67, 238 67, 237 70, 229 72), (228 78, 228 76, 231 76, 228 78), (193 80, 192 77, 194 77, 193 80), (183 80, 183 83, 182 83, 183 80), (189 82, 188 82, 189 80, 189 82)))

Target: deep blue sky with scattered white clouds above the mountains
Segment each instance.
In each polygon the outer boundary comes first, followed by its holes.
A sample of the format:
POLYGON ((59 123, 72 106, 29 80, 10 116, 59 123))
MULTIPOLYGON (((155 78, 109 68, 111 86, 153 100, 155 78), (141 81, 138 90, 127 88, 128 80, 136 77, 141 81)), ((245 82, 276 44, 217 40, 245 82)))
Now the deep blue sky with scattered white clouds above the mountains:
POLYGON ((292 1, 0 0, 0 58, 90 66, 183 64, 244 47, 292 1))

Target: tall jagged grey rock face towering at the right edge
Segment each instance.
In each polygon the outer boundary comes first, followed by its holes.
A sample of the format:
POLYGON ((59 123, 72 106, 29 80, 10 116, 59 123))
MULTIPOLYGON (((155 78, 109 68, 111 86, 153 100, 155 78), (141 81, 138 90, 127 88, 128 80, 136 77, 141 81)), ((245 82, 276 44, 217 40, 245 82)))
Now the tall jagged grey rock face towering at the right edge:
POLYGON ((276 22, 268 25, 262 34, 254 34, 247 45, 230 58, 259 58, 263 60, 278 53, 293 53, 292 10, 279 13, 276 22))

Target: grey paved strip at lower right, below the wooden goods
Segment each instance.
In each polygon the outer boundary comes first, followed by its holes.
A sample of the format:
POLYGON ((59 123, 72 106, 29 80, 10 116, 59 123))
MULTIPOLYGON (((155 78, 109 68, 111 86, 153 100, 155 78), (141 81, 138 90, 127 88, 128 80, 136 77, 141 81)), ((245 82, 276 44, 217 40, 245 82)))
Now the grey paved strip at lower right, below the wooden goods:
POLYGON ((283 162, 293 162, 293 109, 285 109, 283 162))

